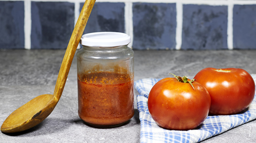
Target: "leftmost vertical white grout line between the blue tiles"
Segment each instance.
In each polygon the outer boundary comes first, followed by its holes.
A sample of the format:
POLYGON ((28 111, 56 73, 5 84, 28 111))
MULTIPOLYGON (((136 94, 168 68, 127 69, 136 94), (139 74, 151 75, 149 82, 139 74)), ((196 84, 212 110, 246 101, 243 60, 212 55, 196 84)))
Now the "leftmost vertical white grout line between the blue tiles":
POLYGON ((31 1, 24 1, 25 49, 31 49, 31 1))

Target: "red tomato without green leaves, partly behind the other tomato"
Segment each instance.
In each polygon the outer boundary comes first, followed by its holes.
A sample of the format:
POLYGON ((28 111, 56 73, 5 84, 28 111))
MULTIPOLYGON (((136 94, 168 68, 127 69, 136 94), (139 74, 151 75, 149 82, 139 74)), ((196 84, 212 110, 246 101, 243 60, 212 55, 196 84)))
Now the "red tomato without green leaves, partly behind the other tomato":
POLYGON ((252 103, 255 83, 243 69, 206 68, 194 77, 211 96, 211 115, 237 114, 252 103))

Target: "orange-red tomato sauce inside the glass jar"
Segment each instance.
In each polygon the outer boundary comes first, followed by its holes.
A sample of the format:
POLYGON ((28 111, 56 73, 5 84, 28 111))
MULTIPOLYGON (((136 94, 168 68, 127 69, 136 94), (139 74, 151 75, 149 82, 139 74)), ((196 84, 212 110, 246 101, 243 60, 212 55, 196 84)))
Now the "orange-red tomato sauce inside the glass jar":
POLYGON ((78 115, 95 126, 116 126, 134 115, 134 81, 129 74, 78 75, 78 115))

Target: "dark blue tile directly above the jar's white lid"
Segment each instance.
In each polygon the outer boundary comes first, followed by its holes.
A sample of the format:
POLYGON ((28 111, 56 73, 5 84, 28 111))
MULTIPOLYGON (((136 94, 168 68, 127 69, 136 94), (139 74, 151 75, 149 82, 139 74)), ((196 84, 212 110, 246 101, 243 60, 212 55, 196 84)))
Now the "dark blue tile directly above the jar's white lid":
MULTIPOLYGON (((80 4, 80 11, 84 3, 80 4)), ((124 3, 95 3, 84 33, 122 32, 124 33, 124 3)))

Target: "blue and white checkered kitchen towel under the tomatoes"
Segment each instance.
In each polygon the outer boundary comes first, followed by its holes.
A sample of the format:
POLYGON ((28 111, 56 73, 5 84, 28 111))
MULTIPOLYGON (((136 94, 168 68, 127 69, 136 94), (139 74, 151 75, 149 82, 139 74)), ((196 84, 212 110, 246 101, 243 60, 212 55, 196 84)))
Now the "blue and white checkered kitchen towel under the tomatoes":
MULTIPOLYGON (((256 81, 256 74, 252 74, 256 81)), ((140 142, 200 142, 211 136, 221 134, 229 129, 256 119, 256 98, 243 114, 229 116, 208 116, 204 122, 194 130, 176 131, 166 130, 159 127, 149 114, 147 107, 148 94, 160 79, 141 79, 135 82, 135 88, 140 95, 137 95, 137 105, 140 119, 140 142)), ((256 82, 255 82, 256 83, 256 82)))

